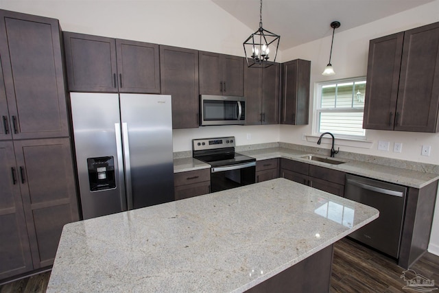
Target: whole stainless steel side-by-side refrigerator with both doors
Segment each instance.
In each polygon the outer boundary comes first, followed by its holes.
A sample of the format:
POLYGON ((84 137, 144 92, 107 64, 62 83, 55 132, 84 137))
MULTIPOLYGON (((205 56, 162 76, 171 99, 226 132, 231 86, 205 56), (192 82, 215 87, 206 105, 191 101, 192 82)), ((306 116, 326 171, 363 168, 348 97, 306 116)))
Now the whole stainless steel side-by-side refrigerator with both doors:
POLYGON ((70 97, 84 219, 174 200, 170 95, 70 97))

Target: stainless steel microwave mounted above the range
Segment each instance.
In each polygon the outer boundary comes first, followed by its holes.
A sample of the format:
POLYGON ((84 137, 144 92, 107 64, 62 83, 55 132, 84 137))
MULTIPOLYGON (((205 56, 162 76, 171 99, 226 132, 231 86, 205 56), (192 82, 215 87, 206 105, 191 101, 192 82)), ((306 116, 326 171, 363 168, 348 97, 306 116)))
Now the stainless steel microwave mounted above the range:
POLYGON ((246 98, 200 95, 200 126, 246 124, 246 98))

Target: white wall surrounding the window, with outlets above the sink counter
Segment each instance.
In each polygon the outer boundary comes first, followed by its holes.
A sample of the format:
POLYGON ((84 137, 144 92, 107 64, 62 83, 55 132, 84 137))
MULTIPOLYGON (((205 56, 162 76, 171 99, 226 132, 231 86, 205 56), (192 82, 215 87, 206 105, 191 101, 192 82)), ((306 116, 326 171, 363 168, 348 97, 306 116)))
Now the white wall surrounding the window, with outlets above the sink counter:
MULTIPOLYGON (((335 19, 336 18, 337 17, 335 17, 335 19)), ((329 50, 331 49, 332 37, 330 32, 325 38, 283 51, 283 61, 294 60, 296 58, 311 60, 310 104, 313 105, 313 97, 315 95, 314 84, 316 82, 366 76, 370 39, 379 38, 381 36, 394 34, 404 30, 410 30, 414 27, 427 25, 437 21, 439 21, 438 0, 412 10, 394 14, 393 16, 386 17, 379 21, 355 27, 351 30, 346 30, 340 33, 335 30, 331 63, 337 74, 333 76, 327 77, 321 74, 329 60, 329 50)), ((340 19, 340 22, 343 25, 342 19, 340 19)), ((312 107, 309 114, 309 117, 312 117, 312 119, 308 126, 281 126, 281 141, 316 146, 316 143, 302 141, 303 133, 313 134, 313 124, 315 123, 313 119, 316 115, 313 115, 312 107)), ((355 148, 346 145, 339 145, 340 150, 439 165, 439 134, 366 130, 366 136, 368 141, 373 142, 372 148, 355 148), (389 152, 377 150, 377 142, 379 140, 390 141, 389 152), (394 142, 403 143, 401 153, 392 152, 394 142), (430 156, 420 155, 422 145, 431 145, 430 156)), ((330 148, 329 145, 326 145, 325 147, 330 148)), ((439 200, 436 200, 435 218, 431 230, 429 251, 439 255, 439 200)))

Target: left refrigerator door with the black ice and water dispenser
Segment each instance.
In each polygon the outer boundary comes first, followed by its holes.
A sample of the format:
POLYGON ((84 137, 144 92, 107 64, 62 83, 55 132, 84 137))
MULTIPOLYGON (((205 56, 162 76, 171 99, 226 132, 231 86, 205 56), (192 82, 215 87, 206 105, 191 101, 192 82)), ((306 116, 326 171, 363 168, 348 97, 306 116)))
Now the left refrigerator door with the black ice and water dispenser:
POLYGON ((70 93, 84 219, 126 211, 119 95, 70 93))

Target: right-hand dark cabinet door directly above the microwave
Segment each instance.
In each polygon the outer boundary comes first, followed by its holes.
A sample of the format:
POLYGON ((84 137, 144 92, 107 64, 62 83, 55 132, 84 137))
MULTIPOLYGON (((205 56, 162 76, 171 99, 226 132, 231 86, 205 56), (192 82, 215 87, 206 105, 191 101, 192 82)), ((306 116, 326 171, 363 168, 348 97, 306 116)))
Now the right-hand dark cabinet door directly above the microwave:
POLYGON ((244 58, 238 56, 222 56, 223 95, 244 95, 244 58))

